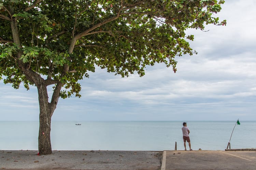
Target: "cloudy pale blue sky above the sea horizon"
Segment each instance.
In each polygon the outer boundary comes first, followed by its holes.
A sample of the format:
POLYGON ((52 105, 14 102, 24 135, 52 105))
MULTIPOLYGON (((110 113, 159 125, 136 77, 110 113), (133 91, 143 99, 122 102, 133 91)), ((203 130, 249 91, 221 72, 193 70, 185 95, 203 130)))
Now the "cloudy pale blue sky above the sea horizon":
MULTIPOLYGON (((176 73, 156 64, 143 77, 122 78, 97 68, 80 81, 81 98, 59 99, 52 120, 256 120, 255 6, 254 0, 226 0, 215 16, 227 26, 188 30, 198 54, 176 57, 176 73)), ((16 90, 0 80, 0 95, 0 121, 39 120, 35 87, 16 90)))

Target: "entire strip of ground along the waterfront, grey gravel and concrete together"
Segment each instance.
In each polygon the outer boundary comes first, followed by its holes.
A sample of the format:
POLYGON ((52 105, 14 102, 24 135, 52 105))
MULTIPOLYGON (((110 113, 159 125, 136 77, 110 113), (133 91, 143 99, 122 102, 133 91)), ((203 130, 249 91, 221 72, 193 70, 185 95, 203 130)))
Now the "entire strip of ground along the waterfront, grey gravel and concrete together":
POLYGON ((0 169, 255 170, 256 151, 0 151, 0 169))

